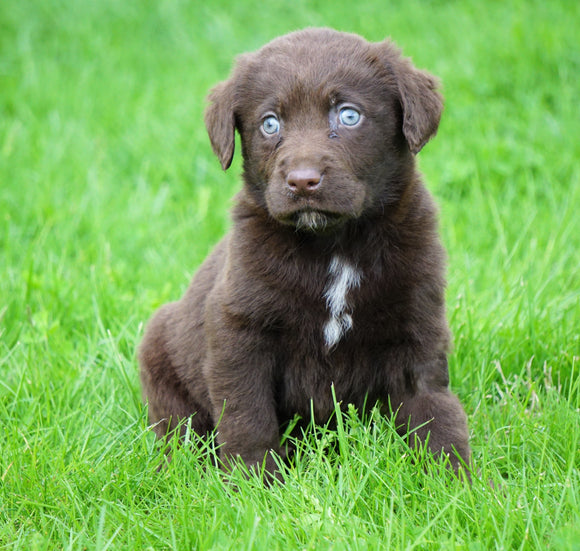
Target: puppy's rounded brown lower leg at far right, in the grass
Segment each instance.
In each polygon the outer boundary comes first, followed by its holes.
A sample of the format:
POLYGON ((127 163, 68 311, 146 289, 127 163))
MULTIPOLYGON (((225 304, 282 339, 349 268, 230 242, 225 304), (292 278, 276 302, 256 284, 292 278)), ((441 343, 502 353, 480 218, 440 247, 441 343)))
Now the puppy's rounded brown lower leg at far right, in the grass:
MULTIPOLYGON (((394 404, 393 404, 394 405, 394 404)), ((467 418, 457 397, 446 388, 407 396, 396 414, 397 430, 413 445, 428 442, 434 455, 447 454, 455 472, 469 466, 467 418)))

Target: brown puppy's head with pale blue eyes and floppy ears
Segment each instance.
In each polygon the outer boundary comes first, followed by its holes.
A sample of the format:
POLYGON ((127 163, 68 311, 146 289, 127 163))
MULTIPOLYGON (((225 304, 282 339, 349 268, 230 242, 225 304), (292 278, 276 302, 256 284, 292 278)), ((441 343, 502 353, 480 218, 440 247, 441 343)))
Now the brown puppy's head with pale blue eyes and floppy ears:
POLYGON ((413 155, 437 131, 436 87, 389 41, 307 29, 241 56, 210 93, 205 123, 224 169, 240 133, 260 208, 298 230, 331 231, 401 196, 413 155))

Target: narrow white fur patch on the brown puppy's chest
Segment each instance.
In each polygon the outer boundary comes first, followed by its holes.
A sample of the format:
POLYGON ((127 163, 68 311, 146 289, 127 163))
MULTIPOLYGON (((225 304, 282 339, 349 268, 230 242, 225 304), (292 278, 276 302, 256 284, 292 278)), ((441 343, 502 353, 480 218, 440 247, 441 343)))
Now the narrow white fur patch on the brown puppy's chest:
POLYGON ((352 328, 352 316, 346 295, 352 288, 360 285, 361 273, 335 256, 328 267, 328 274, 324 298, 330 318, 324 324, 324 342, 330 349, 352 328))

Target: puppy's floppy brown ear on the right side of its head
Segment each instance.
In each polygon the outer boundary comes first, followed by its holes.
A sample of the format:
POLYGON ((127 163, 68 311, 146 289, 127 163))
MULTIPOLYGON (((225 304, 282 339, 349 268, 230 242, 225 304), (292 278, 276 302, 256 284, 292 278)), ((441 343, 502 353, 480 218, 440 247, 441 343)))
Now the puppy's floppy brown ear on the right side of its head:
POLYGON ((412 153, 419 153, 437 133, 443 97, 437 91, 439 81, 413 66, 400 51, 386 40, 378 44, 382 62, 393 73, 403 108, 403 135, 412 153))

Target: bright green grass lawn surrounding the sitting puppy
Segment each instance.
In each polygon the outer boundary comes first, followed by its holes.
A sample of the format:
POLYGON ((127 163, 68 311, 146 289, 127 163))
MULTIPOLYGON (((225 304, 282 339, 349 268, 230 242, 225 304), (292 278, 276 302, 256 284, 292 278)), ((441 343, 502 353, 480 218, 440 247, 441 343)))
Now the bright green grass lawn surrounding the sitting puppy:
POLYGON ((0 2, 0 548, 578 549, 578 28, 564 0, 0 2), (420 164, 471 488, 355 415, 310 435, 284 487, 188 446, 156 472, 135 347, 239 186, 205 95, 309 25, 391 36, 443 81, 420 164))

